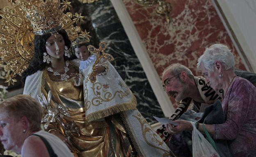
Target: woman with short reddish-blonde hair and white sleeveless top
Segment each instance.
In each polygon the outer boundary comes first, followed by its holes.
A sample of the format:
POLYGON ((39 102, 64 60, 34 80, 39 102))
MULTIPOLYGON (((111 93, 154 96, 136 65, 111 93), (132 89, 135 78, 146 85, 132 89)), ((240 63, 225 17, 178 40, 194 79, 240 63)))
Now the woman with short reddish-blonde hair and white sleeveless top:
POLYGON ((73 157, 57 136, 41 130, 39 103, 28 95, 16 95, 0 104, 0 139, 5 150, 23 157, 73 157))

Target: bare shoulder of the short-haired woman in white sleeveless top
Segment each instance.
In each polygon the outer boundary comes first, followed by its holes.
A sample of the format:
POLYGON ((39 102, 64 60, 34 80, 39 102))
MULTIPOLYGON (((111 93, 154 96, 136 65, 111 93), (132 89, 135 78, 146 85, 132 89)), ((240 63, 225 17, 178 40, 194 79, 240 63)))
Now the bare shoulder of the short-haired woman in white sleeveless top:
POLYGON ((25 139, 22 146, 22 156, 23 157, 49 157, 48 150, 40 139, 37 136, 30 136, 25 139))

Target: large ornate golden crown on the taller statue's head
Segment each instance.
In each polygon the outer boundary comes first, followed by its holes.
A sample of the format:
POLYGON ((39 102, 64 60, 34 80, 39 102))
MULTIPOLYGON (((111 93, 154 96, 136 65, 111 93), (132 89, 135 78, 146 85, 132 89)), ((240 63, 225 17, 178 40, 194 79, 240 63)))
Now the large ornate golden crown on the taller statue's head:
POLYGON ((62 29, 62 9, 59 0, 27 0, 22 9, 31 22, 35 35, 53 33, 62 29))

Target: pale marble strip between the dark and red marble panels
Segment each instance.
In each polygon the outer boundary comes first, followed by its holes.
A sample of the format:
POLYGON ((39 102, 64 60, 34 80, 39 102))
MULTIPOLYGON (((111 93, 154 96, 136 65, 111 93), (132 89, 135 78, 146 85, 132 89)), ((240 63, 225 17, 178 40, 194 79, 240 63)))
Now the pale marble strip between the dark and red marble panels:
POLYGON ((158 73, 155 70, 155 67, 149 57, 139 34, 133 24, 133 21, 130 18, 128 11, 126 10, 125 5, 121 0, 110 0, 113 4, 115 11, 123 25, 124 30, 130 40, 130 43, 133 46, 133 49, 142 64, 142 68, 149 80, 149 83, 153 89, 153 92, 162 108, 162 111, 166 117, 171 116, 174 113, 174 107, 167 96, 163 91, 161 79, 159 78, 158 73))

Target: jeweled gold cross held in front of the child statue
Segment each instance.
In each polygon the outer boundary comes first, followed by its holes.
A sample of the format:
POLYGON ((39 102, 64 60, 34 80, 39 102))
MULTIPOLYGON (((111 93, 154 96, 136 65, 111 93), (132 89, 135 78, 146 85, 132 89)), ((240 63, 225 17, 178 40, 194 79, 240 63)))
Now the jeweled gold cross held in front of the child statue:
POLYGON ((110 62, 114 60, 114 57, 112 55, 105 53, 106 48, 107 48, 106 42, 100 42, 98 49, 96 49, 92 45, 87 46, 88 51, 90 51, 91 53, 94 53, 97 56, 93 66, 92 66, 93 70, 89 74, 89 80, 91 83, 94 83, 97 80, 97 78, 96 78, 97 72, 95 71, 96 70, 95 66, 101 61, 101 58, 105 58, 106 60, 108 60, 110 62))

